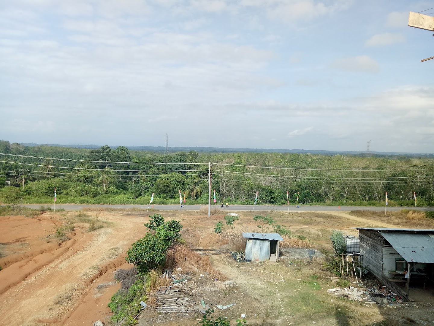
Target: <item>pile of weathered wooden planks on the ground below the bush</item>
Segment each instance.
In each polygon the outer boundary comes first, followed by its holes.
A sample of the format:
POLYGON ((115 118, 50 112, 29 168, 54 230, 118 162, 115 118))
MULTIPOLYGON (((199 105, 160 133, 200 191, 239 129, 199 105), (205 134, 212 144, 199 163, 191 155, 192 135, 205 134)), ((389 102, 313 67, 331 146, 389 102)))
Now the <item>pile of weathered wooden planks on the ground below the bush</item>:
POLYGON ((184 295, 177 284, 163 286, 156 293, 155 309, 161 313, 187 313, 193 310, 192 298, 184 295))

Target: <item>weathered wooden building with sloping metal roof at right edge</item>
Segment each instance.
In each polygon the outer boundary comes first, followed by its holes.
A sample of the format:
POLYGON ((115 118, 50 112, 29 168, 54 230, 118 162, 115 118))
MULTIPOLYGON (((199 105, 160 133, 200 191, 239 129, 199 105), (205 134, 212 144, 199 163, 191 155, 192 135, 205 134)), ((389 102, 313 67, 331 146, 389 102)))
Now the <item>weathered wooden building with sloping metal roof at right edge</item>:
POLYGON ((432 285, 434 230, 358 229, 363 265, 385 286, 409 299, 411 286, 432 285), (403 274, 410 271, 408 278, 403 274))

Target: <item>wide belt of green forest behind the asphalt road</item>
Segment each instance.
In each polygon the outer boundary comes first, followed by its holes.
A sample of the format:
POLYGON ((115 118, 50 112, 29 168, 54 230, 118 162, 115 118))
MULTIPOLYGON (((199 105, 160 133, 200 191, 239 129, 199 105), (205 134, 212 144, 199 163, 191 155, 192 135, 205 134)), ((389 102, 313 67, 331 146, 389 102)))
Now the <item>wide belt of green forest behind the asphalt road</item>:
MULTIPOLYGON (((232 204, 418 206, 434 203, 430 156, 216 153, 24 146, 0 141, 0 199, 26 203, 207 203, 208 163, 216 200, 232 204), (28 157, 26 157, 28 156, 28 157), (59 160, 61 159, 61 160, 59 160), (202 164, 200 164, 202 163, 202 164), (8 186, 9 185, 9 186, 8 186), (287 196, 288 193, 288 196, 287 196)), ((214 196, 214 192, 212 197, 214 196)))

